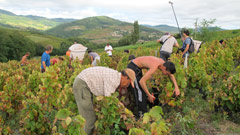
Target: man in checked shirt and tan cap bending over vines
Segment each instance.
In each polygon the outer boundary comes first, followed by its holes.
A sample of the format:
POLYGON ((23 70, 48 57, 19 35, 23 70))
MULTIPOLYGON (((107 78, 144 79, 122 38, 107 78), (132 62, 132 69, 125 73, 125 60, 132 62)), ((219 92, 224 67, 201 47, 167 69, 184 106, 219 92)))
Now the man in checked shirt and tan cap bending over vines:
POLYGON ((90 67, 83 70, 74 80, 73 94, 78 111, 86 120, 84 130, 92 134, 96 115, 93 108, 93 96, 110 96, 118 88, 134 87, 135 73, 125 69, 119 73, 107 67, 90 67))

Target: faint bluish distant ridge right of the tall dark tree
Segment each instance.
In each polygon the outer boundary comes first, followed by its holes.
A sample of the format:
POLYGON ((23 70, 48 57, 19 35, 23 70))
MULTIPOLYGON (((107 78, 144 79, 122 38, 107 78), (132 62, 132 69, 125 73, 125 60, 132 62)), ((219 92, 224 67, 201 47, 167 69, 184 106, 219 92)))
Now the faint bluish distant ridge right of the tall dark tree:
POLYGON ((170 32, 170 33, 178 33, 178 28, 174 27, 174 26, 169 26, 169 25, 155 25, 155 26, 151 26, 151 25, 147 25, 144 24, 143 26, 149 27, 149 28, 154 28, 163 32, 170 32))

